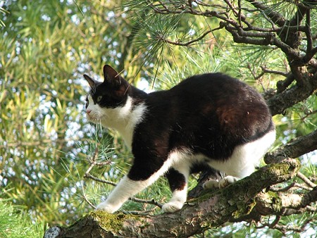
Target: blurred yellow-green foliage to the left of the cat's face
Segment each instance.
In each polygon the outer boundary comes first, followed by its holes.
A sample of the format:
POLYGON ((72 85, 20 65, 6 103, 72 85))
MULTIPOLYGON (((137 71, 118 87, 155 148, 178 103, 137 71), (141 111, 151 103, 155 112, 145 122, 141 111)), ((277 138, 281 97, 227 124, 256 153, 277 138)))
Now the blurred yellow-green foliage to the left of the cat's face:
POLYGON ((83 116, 82 73, 118 65, 129 28, 112 3, 76 2, 1 6, 9 12, 0 37, 1 187, 6 199, 51 224, 78 218, 83 201, 78 158, 86 157, 92 133, 83 116))

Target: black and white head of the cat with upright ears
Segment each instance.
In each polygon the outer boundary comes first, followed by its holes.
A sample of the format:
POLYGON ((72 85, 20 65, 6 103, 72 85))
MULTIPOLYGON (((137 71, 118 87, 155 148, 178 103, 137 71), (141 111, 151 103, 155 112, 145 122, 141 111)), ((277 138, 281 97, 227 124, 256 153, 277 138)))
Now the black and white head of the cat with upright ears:
POLYGON ((127 104, 130 84, 109 65, 104 65, 104 82, 93 80, 88 75, 84 77, 90 86, 86 99, 88 120, 111 127, 123 116, 121 111, 127 104))

